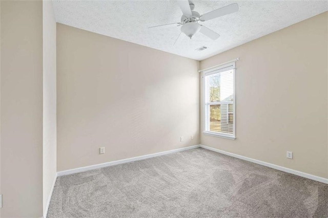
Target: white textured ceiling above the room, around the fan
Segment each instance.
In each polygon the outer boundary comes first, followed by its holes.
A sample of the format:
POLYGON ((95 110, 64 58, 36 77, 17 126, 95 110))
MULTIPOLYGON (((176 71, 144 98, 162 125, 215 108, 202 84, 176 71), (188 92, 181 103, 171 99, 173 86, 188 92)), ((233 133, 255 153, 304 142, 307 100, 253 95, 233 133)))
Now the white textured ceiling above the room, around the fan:
POLYGON ((76 28, 130 41, 195 60, 227 51, 245 42, 288 27, 328 10, 328 1, 201 1, 195 11, 207 13, 238 3, 239 12, 202 22, 221 36, 213 41, 201 33, 192 39, 180 27, 147 27, 180 22, 182 12, 175 0, 161 1, 58 1, 53 0, 56 21, 76 28), (208 49, 195 49, 207 46, 208 49))

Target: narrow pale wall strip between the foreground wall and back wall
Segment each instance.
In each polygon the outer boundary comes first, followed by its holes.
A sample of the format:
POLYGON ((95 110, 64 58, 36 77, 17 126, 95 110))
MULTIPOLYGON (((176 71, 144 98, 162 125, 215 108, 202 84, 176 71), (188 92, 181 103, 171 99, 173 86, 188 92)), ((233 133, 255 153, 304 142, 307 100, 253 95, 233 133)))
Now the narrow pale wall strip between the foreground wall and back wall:
POLYGON ((56 178, 56 21, 52 2, 43 1, 43 212, 56 178))

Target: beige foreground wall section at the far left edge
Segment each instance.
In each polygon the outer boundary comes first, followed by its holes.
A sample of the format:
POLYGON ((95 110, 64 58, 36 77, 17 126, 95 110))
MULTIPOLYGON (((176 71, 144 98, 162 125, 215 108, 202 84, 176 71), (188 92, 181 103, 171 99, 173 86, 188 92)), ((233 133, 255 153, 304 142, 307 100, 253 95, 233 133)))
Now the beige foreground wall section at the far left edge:
POLYGON ((2 217, 41 217, 42 2, 1 1, 2 217))

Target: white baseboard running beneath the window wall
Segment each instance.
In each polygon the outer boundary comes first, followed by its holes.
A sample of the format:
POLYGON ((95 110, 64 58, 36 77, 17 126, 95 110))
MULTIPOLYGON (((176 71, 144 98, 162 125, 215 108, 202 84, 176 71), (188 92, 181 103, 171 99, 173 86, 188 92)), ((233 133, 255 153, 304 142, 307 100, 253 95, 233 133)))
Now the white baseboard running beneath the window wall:
POLYGON ((317 177, 317 176, 311 175, 309 173, 297 171, 297 170, 286 168, 286 167, 283 167, 283 166, 278 166, 278 165, 267 163, 267 162, 264 162, 264 161, 255 160, 255 159, 244 157, 244 156, 241 156, 241 155, 236 155, 236 154, 233 154, 233 153, 230 153, 230 152, 227 152, 227 151, 224 151, 224 150, 219 150, 219 149, 209 147, 209 146, 206 146, 206 145, 200 145, 200 147, 208 149, 208 150, 212 150, 212 151, 215 151, 215 152, 218 152, 218 153, 221 153, 223 155, 228 155, 228 156, 231 156, 231 157, 234 157, 234 158, 249 161, 249 162, 256 163, 256 164, 259 164, 259 165, 262 165, 262 166, 267 166, 267 167, 270 167, 270 168, 273 168, 273 169, 288 172, 288 173, 291 173, 291 174, 294 174, 294 175, 297 175, 297 176, 300 176, 300 177, 304 177, 306 179, 315 180, 315 181, 318 181, 318 182, 328 184, 328 179, 325 179, 325 178, 322 178, 322 177, 317 177))

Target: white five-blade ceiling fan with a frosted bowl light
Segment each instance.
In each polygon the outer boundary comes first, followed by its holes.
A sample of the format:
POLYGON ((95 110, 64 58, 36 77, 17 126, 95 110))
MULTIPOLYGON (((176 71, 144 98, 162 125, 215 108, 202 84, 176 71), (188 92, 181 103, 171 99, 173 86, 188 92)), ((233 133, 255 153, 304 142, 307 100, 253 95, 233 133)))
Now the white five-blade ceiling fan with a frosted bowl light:
MULTIPOLYGON (((210 11, 206 14, 200 15, 197 11, 194 11, 195 5, 189 0, 178 0, 177 1, 183 15, 181 16, 180 23, 172 23, 172 24, 163 24, 158 26, 153 26, 149 28, 157 28, 157 27, 166 27, 166 26, 181 26, 181 32, 186 34, 189 38, 192 38, 197 32, 200 32, 207 37, 216 40, 220 35, 210 30, 207 27, 199 24, 199 21, 207 21, 210 19, 214 19, 223 15, 231 14, 237 12, 239 10, 238 4, 234 3, 214 11, 210 11)), ((180 33, 181 35, 181 33, 180 33)), ((179 35, 179 36, 180 36, 179 35)), ((178 36, 178 38, 179 38, 178 36)), ((175 42, 178 40, 175 40, 175 42)), ((174 42, 174 44, 175 44, 174 42)), ((173 44, 173 45, 174 45, 173 44)))

